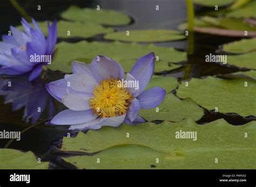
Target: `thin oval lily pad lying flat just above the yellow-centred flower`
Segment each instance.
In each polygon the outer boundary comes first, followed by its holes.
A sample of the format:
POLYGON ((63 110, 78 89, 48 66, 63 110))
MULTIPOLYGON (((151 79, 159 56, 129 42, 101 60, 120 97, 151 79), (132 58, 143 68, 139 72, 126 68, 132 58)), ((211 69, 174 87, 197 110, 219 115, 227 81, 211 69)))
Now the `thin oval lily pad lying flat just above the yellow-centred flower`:
POLYGON ((160 42, 184 39, 185 34, 176 30, 130 30, 106 34, 105 39, 132 42, 160 42))

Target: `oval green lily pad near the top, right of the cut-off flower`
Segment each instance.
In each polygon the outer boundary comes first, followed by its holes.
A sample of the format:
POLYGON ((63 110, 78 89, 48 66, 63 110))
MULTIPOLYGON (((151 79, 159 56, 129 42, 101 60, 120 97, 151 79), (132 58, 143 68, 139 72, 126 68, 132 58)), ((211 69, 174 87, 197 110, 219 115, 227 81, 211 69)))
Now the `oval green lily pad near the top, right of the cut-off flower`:
POLYGON ((82 22, 98 23, 105 25, 126 25, 131 22, 128 15, 114 10, 81 9, 77 6, 70 8, 60 14, 62 18, 82 22))

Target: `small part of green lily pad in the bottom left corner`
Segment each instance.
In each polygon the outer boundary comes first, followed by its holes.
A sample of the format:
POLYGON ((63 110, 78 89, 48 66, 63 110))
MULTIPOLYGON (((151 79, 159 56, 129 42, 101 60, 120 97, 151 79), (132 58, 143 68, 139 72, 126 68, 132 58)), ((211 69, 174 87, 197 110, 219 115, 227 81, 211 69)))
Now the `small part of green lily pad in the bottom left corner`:
POLYGON ((49 162, 37 162, 35 155, 15 149, 0 149, 0 169, 48 169, 49 162))

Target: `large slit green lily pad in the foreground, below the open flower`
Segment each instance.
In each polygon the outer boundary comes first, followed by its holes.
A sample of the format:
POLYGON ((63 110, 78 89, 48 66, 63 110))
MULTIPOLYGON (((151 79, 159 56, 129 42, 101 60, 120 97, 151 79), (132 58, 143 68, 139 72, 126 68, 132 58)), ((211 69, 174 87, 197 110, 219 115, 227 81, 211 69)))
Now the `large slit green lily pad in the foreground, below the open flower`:
POLYGON ((251 164, 256 153, 255 135, 255 121, 232 126, 223 119, 204 125, 187 119, 80 132, 75 138, 64 137, 62 149, 87 153, 103 150, 93 156, 64 158, 80 169, 252 169, 256 168, 251 164), (197 133, 197 138, 176 138, 180 130, 197 133))

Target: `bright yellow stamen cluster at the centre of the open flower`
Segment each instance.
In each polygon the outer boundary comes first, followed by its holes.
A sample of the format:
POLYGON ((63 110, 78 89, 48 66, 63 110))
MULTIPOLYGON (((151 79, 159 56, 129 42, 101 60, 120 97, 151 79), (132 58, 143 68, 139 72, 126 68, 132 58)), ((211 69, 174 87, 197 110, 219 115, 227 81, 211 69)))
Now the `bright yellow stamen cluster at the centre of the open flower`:
POLYGON ((118 79, 102 80, 92 93, 90 106, 102 118, 125 114, 133 99, 129 90, 118 87, 118 79))

